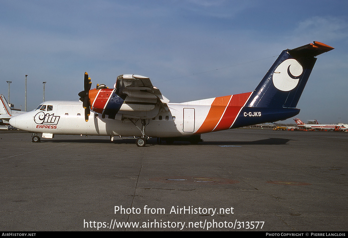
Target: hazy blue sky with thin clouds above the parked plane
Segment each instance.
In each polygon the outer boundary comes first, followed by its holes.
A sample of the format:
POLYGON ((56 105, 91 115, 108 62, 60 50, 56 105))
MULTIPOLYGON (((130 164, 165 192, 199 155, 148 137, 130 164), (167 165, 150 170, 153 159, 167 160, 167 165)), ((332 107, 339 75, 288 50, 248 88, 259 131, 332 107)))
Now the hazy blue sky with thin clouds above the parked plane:
MULTIPOLYGON (((348 124, 347 1, 0 1, 0 93, 27 111, 79 99, 121 74, 150 77, 171 102, 252 92, 284 49, 319 41, 297 108, 348 124), (22 105, 22 106, 21 106, 22 105)), ((291 119, 286 122, 293 122, 291 119)))

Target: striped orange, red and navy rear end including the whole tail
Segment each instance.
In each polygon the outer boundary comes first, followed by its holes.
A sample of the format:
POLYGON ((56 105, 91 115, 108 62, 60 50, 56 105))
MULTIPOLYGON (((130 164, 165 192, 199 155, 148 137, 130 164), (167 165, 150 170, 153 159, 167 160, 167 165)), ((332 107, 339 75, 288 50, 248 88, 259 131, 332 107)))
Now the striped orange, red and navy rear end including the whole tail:
POLYGON ((196 134, 296 116, 300 112, 296 105, 317 60, 315 56, 332 49, 323 43, 314 42, 284 50, 254 92, 215 97, 196 134))

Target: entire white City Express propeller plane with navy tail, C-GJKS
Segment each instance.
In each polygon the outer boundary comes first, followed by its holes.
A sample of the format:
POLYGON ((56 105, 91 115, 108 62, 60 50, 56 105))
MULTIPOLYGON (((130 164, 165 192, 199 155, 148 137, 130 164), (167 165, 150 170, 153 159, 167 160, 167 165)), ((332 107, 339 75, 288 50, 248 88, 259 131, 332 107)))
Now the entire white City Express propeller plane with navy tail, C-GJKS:
POLYGON ((183 103, 169 103, 148 77, 121 75, 114 88, 97 85, 85 73, 81 102, 49 101, 36 110, 10 119, 16 128, 42 137, 102 135, 136 138, 137 146, 157 137, 171 143, 200 134, 294 117, 296 105, 316 62, 315 56, 333 48, 320 42, 284 50, 253 92, 183 103), (92 113, 91 113, 92 112, 92 113))

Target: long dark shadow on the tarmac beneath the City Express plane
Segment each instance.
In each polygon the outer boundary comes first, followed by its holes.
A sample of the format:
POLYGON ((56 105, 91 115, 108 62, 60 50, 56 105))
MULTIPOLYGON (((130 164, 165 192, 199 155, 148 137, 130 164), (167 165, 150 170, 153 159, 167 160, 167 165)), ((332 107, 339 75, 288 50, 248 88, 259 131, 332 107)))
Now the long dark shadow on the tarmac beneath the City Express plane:
MULTIPOLYGON (((285 138, 267 138, 256 141, 203 141, 199 142, 196 146, 200 145, 287 145, 291 139, 285 138)), ((43 139, 41 143, 102 143, 102 144, 134 144, 134 139, 116 139, 113 142, 107 139, 43 139)), ((151 138, 148 140, 147 146, 153 145, 168 145, 166 142, 162 144, 157 144, 156 138, 151 138)), ((178 145, 191 145, 190 142, 185 141, 175 141, 170 146, 178 145)))

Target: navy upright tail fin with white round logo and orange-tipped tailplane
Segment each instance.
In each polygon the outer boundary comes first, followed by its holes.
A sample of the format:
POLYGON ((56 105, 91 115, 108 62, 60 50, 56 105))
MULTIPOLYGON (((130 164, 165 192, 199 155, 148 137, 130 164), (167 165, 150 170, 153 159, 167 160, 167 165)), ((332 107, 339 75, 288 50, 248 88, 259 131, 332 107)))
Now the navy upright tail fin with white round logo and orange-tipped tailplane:
POLYGON ((247 107, 295 108, 314 67, 315 56, 333 48, 320 42, 284 50, 256 87, 247 107))

